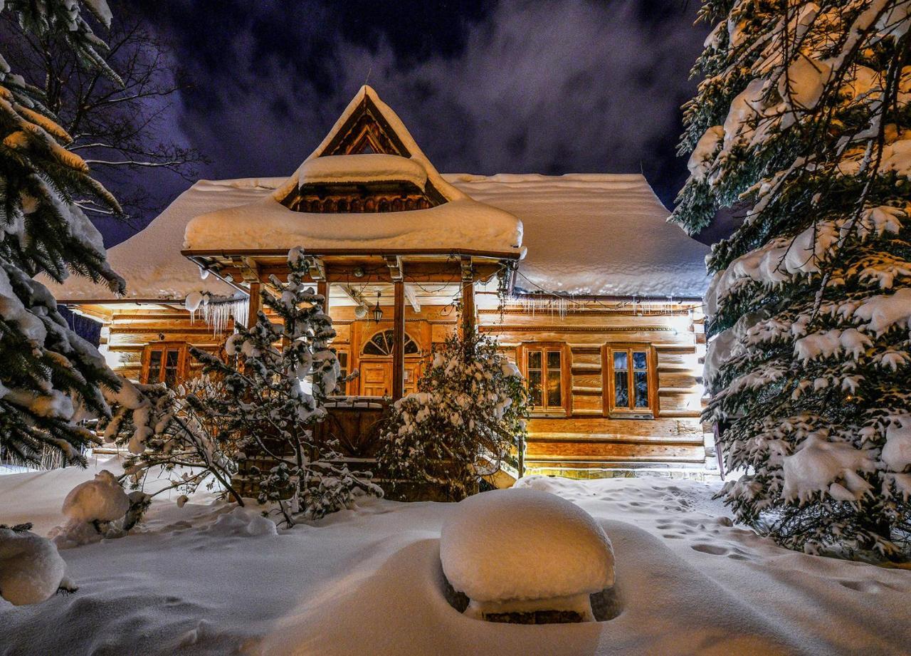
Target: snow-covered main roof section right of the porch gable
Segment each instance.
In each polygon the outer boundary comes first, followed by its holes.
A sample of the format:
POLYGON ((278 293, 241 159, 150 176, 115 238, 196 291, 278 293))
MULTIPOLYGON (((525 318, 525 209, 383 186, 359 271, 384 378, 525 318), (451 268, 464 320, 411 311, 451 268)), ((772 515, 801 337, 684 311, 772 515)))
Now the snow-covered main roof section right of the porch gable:
POLYGON ((447 174, 473 199, 515 214, 526 258, 518 292, 701 297, 709 247, 667 219, 640 174, 447 174))

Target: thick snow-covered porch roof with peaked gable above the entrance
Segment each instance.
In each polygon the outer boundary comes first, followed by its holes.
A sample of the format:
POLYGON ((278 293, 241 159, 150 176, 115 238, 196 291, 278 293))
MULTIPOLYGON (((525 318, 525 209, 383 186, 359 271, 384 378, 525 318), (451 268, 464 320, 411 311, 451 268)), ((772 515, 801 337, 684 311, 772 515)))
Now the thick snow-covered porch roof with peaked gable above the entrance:
POLYGON ((445 182, 395 112, 371 87, 361 87, 322 144, 269 198, 216 210, 190 220, 189 251, 240 249, 459 249, 519 255, 522 223, 506 210, 486 206, 445 182), (370 102, 391 128, 403 155, 326 155, 354 112, 370 102), (397 179, 421 190, 433 186, 445 202, 424 210, 319 213, 294 211, 281 203, 302 184, 397 179))

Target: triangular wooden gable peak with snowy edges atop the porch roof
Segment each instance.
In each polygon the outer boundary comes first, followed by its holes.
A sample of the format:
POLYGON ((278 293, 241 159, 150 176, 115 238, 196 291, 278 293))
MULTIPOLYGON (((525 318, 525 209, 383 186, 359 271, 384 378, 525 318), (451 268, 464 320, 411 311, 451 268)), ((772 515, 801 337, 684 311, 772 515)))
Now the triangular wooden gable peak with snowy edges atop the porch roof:
MULTIPOLYGON (((322 143, 304 161, 371 151, 419 161, 427 170, 426 192, 435 197, 436 202, 466 198, 466 194, 443 179, 418 148, 408 128, 404 127, 402 119, 376 95, 373 88, 366 85, 360 88, 342 112, 342 116, 322 139, 322 143)), ((296 190, 301 170, 302 168, 299 168, 295 171, 292 177, 275 191, 275 200, 281 202, 296 190)))

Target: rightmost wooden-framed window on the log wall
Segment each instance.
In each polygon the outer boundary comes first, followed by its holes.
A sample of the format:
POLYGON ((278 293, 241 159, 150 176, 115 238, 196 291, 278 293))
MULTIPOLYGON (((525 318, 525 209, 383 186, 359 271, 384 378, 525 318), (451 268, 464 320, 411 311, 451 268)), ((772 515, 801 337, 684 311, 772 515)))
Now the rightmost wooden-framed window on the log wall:
POLYGON ((655 349, 650 344, 605 344, 601 362, 604 407, 609 415, 657 414, 658 376, 655 349))

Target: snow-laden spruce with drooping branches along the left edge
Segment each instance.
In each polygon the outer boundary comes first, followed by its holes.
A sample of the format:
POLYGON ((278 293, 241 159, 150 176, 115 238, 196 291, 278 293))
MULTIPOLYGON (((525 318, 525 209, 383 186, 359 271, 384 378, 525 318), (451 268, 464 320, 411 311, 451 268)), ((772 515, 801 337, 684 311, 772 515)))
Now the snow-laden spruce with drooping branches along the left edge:
MULTIPOLYGON (((118 81, 83 6, 109 22, 104 0, 7 0, 0 11, 36 36, 65 36, 86 66, 118 81)), ((0 55, 0 453, 25 462, 37 462, 48 447, 81 462, 79 449, 92 436, 77 425, 77 413, 107 416, 104 394, 119 387, 34 278, 44 273, 60 282, 72 272, 123 290, 101 235, 76 202, 88 199, 117 213, 117 200, 92 179, 85 161, 63 148, 69 139, 40 92, 0 55)))

